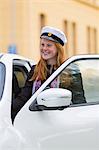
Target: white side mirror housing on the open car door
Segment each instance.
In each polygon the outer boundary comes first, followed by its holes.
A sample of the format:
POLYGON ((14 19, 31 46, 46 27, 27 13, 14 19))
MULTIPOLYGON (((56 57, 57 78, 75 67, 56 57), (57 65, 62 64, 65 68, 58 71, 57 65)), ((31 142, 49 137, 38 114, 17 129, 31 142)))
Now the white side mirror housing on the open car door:
POLYGON ((62 88, 50 88, 37 96, 38 105, 46 107, 68 106, 71 103, 71 91, 62 88))

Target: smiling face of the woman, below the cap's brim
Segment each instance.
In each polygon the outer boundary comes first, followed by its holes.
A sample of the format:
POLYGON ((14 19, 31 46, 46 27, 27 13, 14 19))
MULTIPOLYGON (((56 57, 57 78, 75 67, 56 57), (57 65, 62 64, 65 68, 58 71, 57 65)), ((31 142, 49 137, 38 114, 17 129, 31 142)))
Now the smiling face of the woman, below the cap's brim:
POLYGON ((47 61, 48 64, 56 64, 57 48, 55 42, 42 38, 40 40, 41 57, 47 61))

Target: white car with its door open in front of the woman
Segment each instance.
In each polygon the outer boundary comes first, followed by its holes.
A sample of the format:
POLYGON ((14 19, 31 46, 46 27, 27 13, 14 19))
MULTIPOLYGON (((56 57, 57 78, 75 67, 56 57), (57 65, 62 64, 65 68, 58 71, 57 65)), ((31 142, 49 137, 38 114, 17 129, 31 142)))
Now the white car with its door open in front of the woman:
POLYGON ((0 55, 0 150, 99 150, 99 55, 66 60, 21 108, 12 124, 12 74, 19 78, 21 88, 27 76, 24 71, 30 66, 21 57, 0 55), (70 88, 65 85, 68 73, 70 88), (61 86, 49 88, 56 78, 61 86))

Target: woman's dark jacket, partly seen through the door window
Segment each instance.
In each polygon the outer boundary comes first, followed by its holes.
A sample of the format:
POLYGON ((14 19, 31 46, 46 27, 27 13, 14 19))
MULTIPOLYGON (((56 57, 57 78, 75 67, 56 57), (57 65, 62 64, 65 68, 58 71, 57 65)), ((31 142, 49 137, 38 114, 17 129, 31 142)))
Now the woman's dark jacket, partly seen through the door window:
MULTIPOLYGON (((11 117, 12 121, 14 120, 16 114, 18 111, 24 106, 24 104, 30 99, 32 96, 32 87, 33 87, 33 81, 29 81, 31 79, 33 73, 34 73, 35 66, 32 66, 31 71, 28 73, 28 77, 25 83, 25 86, 22 88, 21 93, 12 101, 12 109, 11 109, 11 117)), ((50 66, 48 66, 49 70, 50 66)), ((52 73, 55 70, 52 70, 52 73)), ((48 73, 47 78, 50 76, 48 73)), ((72 92, 72 103, 73 104, 80 104, 85 103, 85 97, 84 97, 84 90, 82 85, 82 77, 80 72, 73 75, 75 76, 74 82, 67 87, 68 90, 72 92)))

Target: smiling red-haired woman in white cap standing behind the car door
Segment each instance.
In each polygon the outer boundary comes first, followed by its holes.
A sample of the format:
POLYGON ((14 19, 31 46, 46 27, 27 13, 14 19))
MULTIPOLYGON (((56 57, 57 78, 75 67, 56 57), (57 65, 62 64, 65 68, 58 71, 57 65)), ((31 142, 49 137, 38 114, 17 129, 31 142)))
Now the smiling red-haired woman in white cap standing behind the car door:
MULTIPOLYGON (((66 36, 61 30, 50 26, 42 28, 40 36, 41 58, 29 72, 21 93, 12 102, 12 120, 32 94, 65 61, 63 46, 66 42, 66 36)), ((71 81, 71 78, 69 79, 71 81)), ((70 82, 68 83, 70 84, 70 82)), ((50 87, 57 87, 57 79, 50 84, 50 87)))

